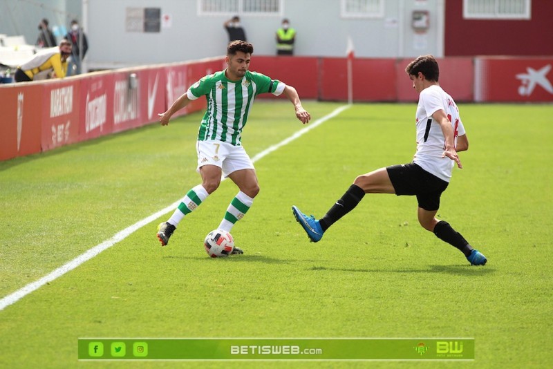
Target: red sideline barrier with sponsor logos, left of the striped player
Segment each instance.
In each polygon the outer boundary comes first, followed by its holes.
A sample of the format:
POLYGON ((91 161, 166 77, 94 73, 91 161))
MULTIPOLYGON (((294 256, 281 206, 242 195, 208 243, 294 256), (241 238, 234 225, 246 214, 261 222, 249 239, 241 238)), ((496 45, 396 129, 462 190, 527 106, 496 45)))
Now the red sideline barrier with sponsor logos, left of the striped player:
MULTIPOLYGON (((189 84, 221 70, 222 65, 218 58, 0 84, 0 160, 156 122, 158 113, 165 111, 189 84), (136 77, 134 88, 129 87, 130 75, 136 77)), ((175 116, 205 106, 205 99, 198 99, 175 116)))

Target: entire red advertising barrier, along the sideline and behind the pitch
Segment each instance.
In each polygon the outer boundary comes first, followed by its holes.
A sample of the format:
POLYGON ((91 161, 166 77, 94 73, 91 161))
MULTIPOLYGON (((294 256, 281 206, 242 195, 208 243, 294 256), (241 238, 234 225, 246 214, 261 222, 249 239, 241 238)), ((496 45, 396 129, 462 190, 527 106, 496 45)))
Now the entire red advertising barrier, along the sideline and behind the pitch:
MULTIPOLYGON (((353 100, 416 102, 418 94, 405 73, 409 61, 353 59, 353 100)), ((553 102, 553 57, 453 57, 438 62, 440 85, 456 101, 553 102)), ((158 113, 191 84, 223 68, 224 59, 218 57, 0 85, 0 160, 156 122, 158 113)), ((255 57, 251 69, 294 86, 303 100, 348 100, 345 57, 255 57)), ((205 106, 202 97, 177 115, 205 106)))

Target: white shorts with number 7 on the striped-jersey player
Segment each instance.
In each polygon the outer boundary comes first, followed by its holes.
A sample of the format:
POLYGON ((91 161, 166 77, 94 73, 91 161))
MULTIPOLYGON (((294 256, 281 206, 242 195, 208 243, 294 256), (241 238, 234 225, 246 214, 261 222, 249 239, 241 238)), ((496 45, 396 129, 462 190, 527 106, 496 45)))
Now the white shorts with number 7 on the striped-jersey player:
POLYGON ((198 172, 204 165, 215 165, 223 170, 223 176, 226 178, 234 171, 255 169, 243 146, 213 140, 198 141, 196 151, 198 152, 198 168, 196 168, 198 172))

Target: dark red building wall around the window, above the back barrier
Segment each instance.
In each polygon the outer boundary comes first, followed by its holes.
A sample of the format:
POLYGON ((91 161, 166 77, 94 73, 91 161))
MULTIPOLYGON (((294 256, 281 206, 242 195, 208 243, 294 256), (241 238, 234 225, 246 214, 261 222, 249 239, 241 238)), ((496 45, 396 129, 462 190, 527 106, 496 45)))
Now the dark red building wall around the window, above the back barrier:
POLYGON ((445 2, 444 55, 553 55, 553 1, 532 1, 531 19, 463 19, 461 0, 445 2))

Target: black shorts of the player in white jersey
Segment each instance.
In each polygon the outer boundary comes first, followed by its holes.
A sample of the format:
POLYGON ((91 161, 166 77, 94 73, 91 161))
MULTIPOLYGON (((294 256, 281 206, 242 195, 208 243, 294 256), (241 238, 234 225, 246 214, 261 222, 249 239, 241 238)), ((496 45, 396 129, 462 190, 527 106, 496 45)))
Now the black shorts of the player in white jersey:
POLYGON ((392 165, 386 167, 397 196, 417 196, 419 207, 433 211, 440 208, 440 196, 447 189, 448 182, 425 171, 417 164, 392 165))

